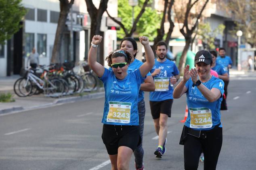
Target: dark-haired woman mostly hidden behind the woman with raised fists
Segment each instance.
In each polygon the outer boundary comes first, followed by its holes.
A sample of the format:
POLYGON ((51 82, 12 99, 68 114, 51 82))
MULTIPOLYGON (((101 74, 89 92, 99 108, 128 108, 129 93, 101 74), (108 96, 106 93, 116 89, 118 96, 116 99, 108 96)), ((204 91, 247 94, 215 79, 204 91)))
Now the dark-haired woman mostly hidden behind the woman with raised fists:
MULTIPOLYGON (((137 47, 136 41, 132 37, 123 38, 120 44, 120 49, 125 50, 132 57, 131 62, 128 66, 128 70, 127 70, 128 73, 138 69, 143 64, 143 62, 135 58, 138 52, 138 47, 137 47)), ((112 68, 109 67, 109 70, 112 70, 112 68)), ((140 126, 141 144, 138 145, 138 147, 136 147, 136 149, 133 152, 135 157, 136 170, 144 170, 144 165, 143 165, 144 150, 142 147, 144 118, 145 118, 145 111, 146 111, 144 91, 155 91, 155 83, 154 83, 153 77, 151 76, 151 73, 147 74, 147 78, 144 80, 144 83, 141 84, 141 88, 138 93, 138 120, 139 120, 139 126, 140 126)))

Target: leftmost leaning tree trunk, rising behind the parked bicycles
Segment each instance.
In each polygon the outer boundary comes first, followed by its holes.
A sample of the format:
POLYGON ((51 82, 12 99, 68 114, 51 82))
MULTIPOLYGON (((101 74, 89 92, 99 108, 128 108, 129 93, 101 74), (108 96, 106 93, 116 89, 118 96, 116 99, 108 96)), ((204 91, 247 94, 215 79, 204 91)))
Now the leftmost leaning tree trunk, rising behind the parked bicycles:
POLYGON ((61 12, 59 14, 58 26, 57 26, 54 45, 52 49, 51 63, 60 62, 60 51, 61 51, 61 41, 63 38, 63 31, 65 29, 67 14, 73 3, 74 3, 74 0, 71 0, 70 2, 68 2, 68 0, 60 0, 61 12))

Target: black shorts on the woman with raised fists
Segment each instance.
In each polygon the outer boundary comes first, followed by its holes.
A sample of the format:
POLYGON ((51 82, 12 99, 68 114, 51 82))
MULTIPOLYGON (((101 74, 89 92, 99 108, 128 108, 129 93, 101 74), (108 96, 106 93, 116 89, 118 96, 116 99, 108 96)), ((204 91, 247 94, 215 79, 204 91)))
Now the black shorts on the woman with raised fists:
POLYGON ((109 155, 118 154, 118 147, 126 146, 132 149, 141 142, 139 126, 104 124, 101 136, 109 155))

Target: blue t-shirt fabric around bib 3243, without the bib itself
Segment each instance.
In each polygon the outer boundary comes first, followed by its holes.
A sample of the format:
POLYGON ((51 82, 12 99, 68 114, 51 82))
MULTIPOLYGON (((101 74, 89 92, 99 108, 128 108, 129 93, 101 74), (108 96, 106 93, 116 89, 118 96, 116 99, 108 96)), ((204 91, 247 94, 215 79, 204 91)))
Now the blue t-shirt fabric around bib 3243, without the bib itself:
POLYGON ((104 74, 100 77, 103 81, 105 89, 105 105, 102 123, 115 125, 138 125, 138 91, 145 77, 141 76, 139 69, 130 72, 127 76, 119 80, 115 77, 113 71, 105 68, 104 74), (127 124, 119 122, 108 122, 107 115, 109 113, 110 102, 125 102, 131 104, 130 122, 127 124))

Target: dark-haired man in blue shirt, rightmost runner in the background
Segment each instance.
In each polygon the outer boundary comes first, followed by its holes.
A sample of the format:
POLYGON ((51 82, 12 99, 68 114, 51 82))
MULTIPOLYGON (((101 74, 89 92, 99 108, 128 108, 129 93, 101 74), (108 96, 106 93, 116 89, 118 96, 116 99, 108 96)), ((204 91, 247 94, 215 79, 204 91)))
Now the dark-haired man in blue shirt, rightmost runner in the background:
MULTIPOLYGON (((228 72, 228 75, 229 75, 229 68, 232 68, 232 60, 229 56, 226 56, 225 48, 220 48, 219 49, 219 54, 220 54, 220 56, 217 57, 216 63, 222 64, 227 69, 227 72, 228 72)), ((220 77, 220 79, 221 79, 221 77, 220 77)), ((225 83, 225 85, 224 85, 224 94, 227 98, 229 80, 223 80, 223 81, 225 83)), ((226 100, 222 100, 220 110, 228 110, 226 100)))

